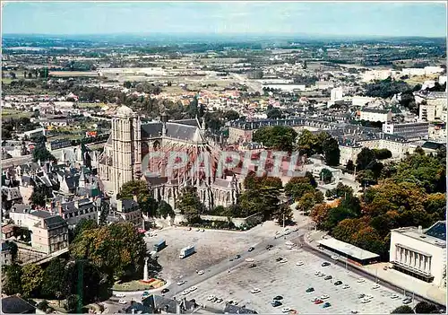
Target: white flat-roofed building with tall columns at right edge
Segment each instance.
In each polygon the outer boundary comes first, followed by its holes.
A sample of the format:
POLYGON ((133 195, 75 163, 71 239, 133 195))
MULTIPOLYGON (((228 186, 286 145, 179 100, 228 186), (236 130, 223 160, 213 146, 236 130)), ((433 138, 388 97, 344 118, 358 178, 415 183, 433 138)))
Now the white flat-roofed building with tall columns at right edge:
POLYGON ((446 287, 446 221, 391 231, 390 262, 394 269, 427 283, 446 287))

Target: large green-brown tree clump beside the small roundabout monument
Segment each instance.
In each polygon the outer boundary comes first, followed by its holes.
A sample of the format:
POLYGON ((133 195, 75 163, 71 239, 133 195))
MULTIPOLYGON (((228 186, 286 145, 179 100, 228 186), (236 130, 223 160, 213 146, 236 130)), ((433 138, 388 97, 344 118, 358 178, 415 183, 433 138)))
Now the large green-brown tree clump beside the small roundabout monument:
POLYGON ((75 259, 88 259, 101 273, 121 279, 141 276, 147 256, 142 233, 132 223, 112 223, 85 230, 71 244, 75 259))

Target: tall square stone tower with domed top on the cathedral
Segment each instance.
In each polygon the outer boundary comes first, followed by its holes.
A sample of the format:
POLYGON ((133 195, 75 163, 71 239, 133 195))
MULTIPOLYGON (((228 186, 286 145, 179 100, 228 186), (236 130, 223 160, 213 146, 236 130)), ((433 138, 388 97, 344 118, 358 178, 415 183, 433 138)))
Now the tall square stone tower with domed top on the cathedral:
POLYGON ((142 175, 141 121, 127 106, 116 110, 112 118, 112 150, 115 195, 126 182, 142 175))

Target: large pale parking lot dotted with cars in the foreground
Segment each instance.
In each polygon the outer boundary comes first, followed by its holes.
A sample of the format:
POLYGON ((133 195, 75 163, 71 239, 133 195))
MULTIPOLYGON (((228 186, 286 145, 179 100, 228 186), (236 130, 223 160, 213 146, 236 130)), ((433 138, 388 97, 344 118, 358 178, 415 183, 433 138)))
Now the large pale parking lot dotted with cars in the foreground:
POLYGON ((234 300, 238 305, 246 305, 246 308, 259 313, 279 313, 283 307, 289 307, 299 313, 347 314, 350 311, 358 311, 375 314, 389 313, 402 305, 403 293, 398 293, 400 298, 393 300, 392 290, 383 286, 372 289, 375 283, 369 280, 358 283, 358 276, 348 273, 343 262, 330 261, 331 266, 322 267, 323 261, 301 249, 288 250, 285 245, 281 245, 257 256, 257 267, 249 268, 250 264, 244 263, 232 269, 230 273, 213 276, 197 284, 198 289, 189 293, 187 298, 194 298, 206 306, 217 308, 219 305, 207 301, 207 297, 214 294, 224 299, 224 302, 220 303, 222 308, 226 301, 234 300), (276 258, 287 258, 288 262, 280 263, 276 258), (296 266, 299 260, 304 262, 303 266, 296 266), (316 271, 331 275, 332 280, 324 280, 324 276, 314 276, 316 271), (343 289, 342 285, 334 285, 338 280, 349 284, 350 287, 343 289), (314 287, 314 292, 306 293, 308 287, 314 287), (254 288, 261 289, 261 292, 250 293, 254 288), (374 298, 363 304, 361 299, 358 299, 359 293, 371 294, 374 298), (323 294, 330 296, 323 301, 332 304, 327 309, 323 309, 323 304, 315 305, 311 302, 314 297, 318 298, 323 294), (283 297, 282 305, 274 308, 271 306, 271 300, 277 295, 283 297))

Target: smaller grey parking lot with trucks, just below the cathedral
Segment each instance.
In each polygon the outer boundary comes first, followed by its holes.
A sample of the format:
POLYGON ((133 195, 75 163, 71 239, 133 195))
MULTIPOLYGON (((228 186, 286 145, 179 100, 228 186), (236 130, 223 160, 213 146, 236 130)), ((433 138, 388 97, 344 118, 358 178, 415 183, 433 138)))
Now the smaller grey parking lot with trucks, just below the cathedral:
MULTIPOLYGON (((273 232, 270 232, 273 235, 273 232)), ((254 232, 226 232, 205 230, 197 232, 185 228, 169 228, 157 232, 156 236, 145 238, 148 247, 160 240, 167 242, 167 247, 159 251, 159 264, 162 271, 159 276, 175 281, 180 276, 194 274, 196 270, 206 270, 215 264, 237 254, 246 252, 256 243, 266 239, 266 236, 254 232), (180 249, 194 245, 196 252, 185 259, 179 258, 180 249)))

